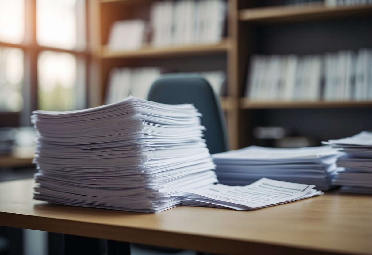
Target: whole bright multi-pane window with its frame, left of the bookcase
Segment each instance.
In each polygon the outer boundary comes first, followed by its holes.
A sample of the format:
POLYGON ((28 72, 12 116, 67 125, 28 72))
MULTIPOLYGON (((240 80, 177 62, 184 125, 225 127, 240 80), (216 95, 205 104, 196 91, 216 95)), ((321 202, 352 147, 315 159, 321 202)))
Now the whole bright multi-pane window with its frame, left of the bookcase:
POLYGON ((0 126, 87 106, 87 0, 0 0, 0 126))

